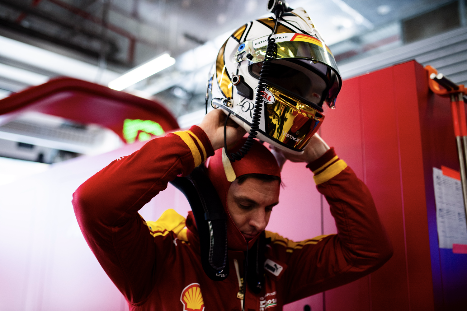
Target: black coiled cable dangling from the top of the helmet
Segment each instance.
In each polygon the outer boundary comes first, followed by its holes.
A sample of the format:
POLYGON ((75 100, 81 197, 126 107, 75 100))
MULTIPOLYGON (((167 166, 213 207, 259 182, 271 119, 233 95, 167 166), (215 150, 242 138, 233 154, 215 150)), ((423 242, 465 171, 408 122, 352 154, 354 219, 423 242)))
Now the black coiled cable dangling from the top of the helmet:
MULTIPOLYGON (((283 11, 277 9, 274 14, 276 15, 276 24, 274 25, 273 32, 268 37, 268 48, 266 48, 266 55, 264 55, 264 61, 262 63, 261 72, 260 72, 260 79, 258 82, 258 89, 256 90, 256 98, 255 98, 255 108, 253 109, 253 118, 251 120, 251 128, 250 132, 248 133, 248 138, 245 144, 240 148, 238 152, 227 152, 227 139, 225 138, 225 126, 224 126, 224 148, 226 149, 227 158, 231 162, 235 162, 235 160, 241 160, 245 155, 250 151, 251 146, 254 144, 256 135, 258 134, 258 130, 260 129, 260 120, 261 120, 261 110, 262 110, 262 103, 263 101, 263 91, 266 89, 265 87, 268 85, 266 82, 266 78, 269 76, 269 70, 271 67, 271 61, 276 58, 277 55, 277 47, 276 47, 276 39, 271 38, 272 35, 276 33, 277 24, 279 23, 279 19, 281 18, 283 11)), ((230 113, 229 113, 230 116, 230 113)), ((227 121, 226 121, 227 124, 227 121)))

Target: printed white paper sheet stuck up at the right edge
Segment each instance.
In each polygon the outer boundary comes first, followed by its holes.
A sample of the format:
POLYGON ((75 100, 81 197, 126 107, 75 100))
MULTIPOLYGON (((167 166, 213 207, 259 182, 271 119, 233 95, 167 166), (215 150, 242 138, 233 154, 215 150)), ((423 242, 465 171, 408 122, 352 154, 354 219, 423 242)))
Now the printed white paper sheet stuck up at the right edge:
POLYGON ((467 225, 460 180, 443 175, 433 167, 436 222, 440 249, 452 249, 453 243, 467 244, 467 225))

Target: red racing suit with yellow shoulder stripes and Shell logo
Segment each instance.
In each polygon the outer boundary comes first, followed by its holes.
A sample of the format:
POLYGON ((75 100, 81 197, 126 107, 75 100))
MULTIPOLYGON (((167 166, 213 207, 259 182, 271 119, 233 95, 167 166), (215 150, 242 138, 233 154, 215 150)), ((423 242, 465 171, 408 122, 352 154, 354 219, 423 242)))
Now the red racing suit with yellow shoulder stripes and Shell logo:
MULTIPOLYGON (((153 139, 114 160, 73 194, 86 242, 130 310, 241 310, 242 251, 229 249, 229 276, 212 281, 201 265, 191 212, 185 220, 168 210, 154 222, 138 214, 169 181, 214 154, 205 132, 197 126, 190 130, 153 139)), ((257 295, 247 289, 245 310, 282 310, 284 304, 365 276, 392 256, 368 188, 333 149, 307 167, 329 202, 338 234, 293 242, 266 231, 271 243, 265 284, 257 295)))

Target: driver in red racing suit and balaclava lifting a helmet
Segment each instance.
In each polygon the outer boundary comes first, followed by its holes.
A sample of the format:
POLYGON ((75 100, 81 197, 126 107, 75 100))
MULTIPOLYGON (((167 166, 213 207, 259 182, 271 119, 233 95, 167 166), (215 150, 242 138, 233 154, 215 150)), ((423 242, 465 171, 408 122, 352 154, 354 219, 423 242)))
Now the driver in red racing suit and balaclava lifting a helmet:
MULTIPOLYGON (((236 179, 227 181, 222 160, 225 118, 220 109, 213 110, 189 131, 152 139, 110 163, 73 194, 86 242, 130 310, 282 310, 284 304, 352 282, 389 260, 392 246, 368 188, 318 135, 302 155, 283 156, 306 163, 314 173, 338 234, 293 242, 265 231, 279 199, 281 165, 255 141, 245 158, 231 163, 236 179), (138 214, 168 182, 200 165, 206 166, 227 214, 230 268, 223 281, 213 281, 203 271, 192 212, 185 219, 169 209, 158 221, 145 221, 138 214), (247 247, 260 236, 267 245, 264 262, 256 267, 263 276, 257 292, 241 276, 247 247)), ((244 134, 229 119, 227 145, 242 145, 244 134)), ((291 203, 282 208, 294 207, 291 203)))

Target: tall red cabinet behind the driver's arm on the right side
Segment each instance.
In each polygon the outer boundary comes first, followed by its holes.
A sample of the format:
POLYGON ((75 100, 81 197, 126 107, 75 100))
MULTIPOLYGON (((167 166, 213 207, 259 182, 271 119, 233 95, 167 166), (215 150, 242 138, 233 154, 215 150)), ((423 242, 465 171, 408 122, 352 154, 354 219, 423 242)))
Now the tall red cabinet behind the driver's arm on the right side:
POLYGON ((467 310, 467 255, 438 248, 433 194, 433 166, 459 170, 449 99, 411 61, 345 81, 336 107, 321 134, 370 189, 394 255, 325 310, 467 310))

